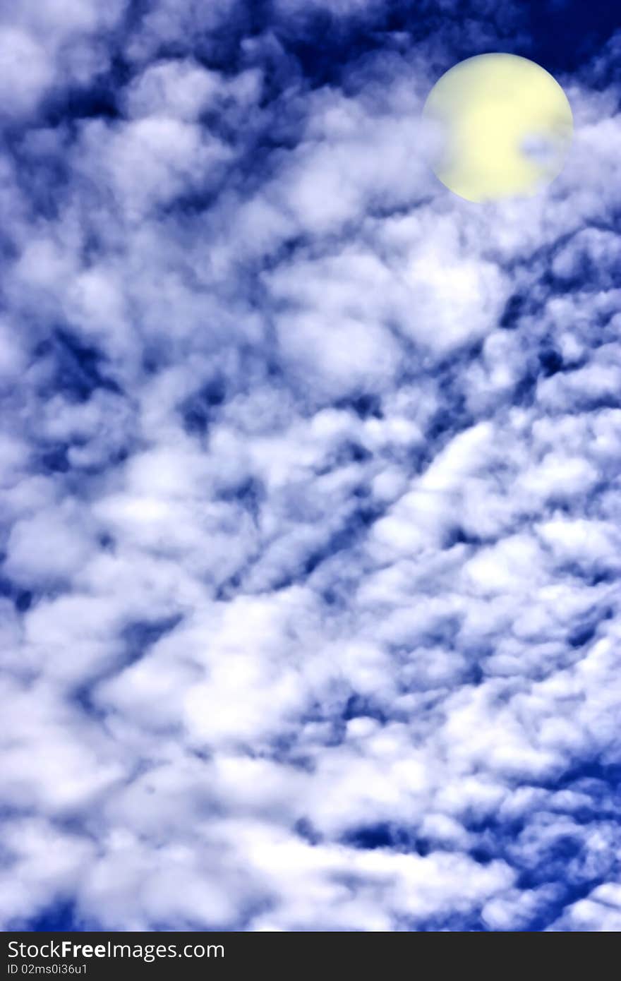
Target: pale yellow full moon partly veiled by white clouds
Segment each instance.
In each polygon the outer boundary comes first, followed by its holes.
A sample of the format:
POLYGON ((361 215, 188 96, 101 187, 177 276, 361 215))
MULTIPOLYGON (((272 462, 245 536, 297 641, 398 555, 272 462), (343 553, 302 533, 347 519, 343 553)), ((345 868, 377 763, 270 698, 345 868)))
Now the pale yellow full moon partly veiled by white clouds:
POLYGON ((558 82, 518 55, 477 55, 446 72, 423 117, 438 134, 433 169, 468 201, 531 196, 560 174, 571 106, 558 82))

